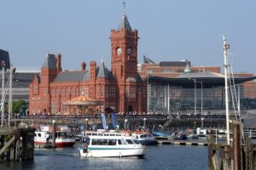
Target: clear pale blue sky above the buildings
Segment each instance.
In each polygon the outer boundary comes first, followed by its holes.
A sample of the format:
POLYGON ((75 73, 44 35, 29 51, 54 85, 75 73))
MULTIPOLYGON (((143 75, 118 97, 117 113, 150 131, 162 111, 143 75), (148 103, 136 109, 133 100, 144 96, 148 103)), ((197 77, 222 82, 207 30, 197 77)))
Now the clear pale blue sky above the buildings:
MULTIPOLYGON (((0 0, 0 48, 15 67, 38 68, 47 53, 62 55, 62 68, 102 60, 111 67, 110 31, 123 0, 0 0)), ((224 65, 223 35, 236 72, 256 72, 255 0, 126 0, 138 30, 138 63, 189 59, 191 65, 224 65)), ((223 71, 223 70, 222 70, 223 71)))

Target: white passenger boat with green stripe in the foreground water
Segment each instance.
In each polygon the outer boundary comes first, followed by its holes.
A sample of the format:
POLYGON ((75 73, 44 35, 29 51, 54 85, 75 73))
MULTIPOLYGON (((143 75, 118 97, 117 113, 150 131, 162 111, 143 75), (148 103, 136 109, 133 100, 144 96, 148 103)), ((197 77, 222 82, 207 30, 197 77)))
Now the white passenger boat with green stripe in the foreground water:
POLYGON ((80 156, 85 157, 127 157, 144 156, 144 147, 137 140, 128 136, 90 136, 83 147, 79 148, 80 156))

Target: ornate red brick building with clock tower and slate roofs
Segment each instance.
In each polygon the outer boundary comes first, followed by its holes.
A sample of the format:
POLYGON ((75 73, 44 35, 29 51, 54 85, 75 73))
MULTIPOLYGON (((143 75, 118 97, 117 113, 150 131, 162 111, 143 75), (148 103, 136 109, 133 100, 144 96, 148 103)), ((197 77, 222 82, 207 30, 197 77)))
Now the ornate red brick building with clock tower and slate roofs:
POLYGON ((40 76, 30 84, 30 114, 64 113, 63 102, 84 94, 103 101, 118 112, 147 110, 147 84, 137 73, 137 30, 132 30, 126 15, 117 30, 111 31, 111 71, 104 63, 82 63, 80 71, 62 71, 61 54, 47 54, 40 76))

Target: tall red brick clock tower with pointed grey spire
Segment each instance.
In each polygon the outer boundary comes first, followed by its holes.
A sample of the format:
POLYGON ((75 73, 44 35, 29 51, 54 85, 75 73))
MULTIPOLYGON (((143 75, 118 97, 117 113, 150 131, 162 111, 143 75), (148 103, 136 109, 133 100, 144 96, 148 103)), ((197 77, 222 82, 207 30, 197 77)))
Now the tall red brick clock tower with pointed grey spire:
POLYGON ((138 111, 137 30, 132 30, 124 13, 117 30, 111 31, 111 67, 117 82, 120 112, 138 111))

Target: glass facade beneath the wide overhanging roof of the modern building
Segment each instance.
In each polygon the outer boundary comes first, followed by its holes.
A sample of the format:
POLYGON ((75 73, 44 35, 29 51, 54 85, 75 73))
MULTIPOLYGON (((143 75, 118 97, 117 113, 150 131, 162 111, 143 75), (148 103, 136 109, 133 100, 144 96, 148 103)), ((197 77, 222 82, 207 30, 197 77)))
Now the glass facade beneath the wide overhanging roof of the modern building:
MULTIPOLYGON (((241 110, 253 109, 256 105, 251 105, 243 95, 243 87, 241 86, 240 93, 236 87, 236 96, 240 96, 241 110)), ((235 94, 234 94, 235 96, 235 94)), ((224 110, 225 98, 224 87, 208 86, 204 88, 202 82, 196 82, 188 86, 177 86, 171 83, 150 82, 148 83, 148 111, 150 112, 172 112, 172 111, 187 111, 195 110, 200 113, 201 108, 205 110, 224 110), (168 104, 169 100, 169 104, 168 104), (168 110, 169 106, 169 110, 168 110)), ((233 107, 232 96, 230 93, 230 108, 233 107)))

